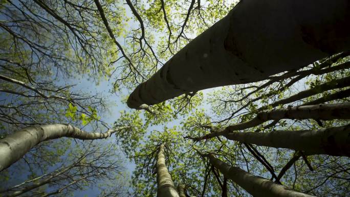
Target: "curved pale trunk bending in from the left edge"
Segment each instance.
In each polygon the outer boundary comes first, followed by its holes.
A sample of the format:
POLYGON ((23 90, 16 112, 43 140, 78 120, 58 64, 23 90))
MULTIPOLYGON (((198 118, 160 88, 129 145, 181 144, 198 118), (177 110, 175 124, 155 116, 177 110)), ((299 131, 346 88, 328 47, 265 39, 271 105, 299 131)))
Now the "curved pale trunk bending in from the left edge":
POLYGON ((31 126, 0 139, 0 171, 6 169, 11 164, 22 158, 36 144, 61 138, 69 137, 81 140, 95 140, 107 138, 118 130, 127 128, 122 126, 109 129, 105 133, 84 132, 80 128, 69 124, 49 124, 41 126, 31 126))

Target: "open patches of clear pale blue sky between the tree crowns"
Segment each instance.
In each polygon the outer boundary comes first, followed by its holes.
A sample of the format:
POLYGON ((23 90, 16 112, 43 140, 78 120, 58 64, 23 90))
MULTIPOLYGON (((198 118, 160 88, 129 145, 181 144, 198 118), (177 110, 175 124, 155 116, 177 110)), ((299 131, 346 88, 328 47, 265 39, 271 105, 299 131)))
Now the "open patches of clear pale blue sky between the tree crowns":
MULTIPOLYGON (((126 10, 126 15, 127 17, 132 17, 134 18, 134 16, 132 15, 129 7, 127 5, 125 6, 125 10, 126 10)), ((136 20, 129 20, 129 24, 127 27, 130 30, 132 29, 138 29, 139 28, 139 23, 136 20)), ((118 41, 120 43, 124 43, 124 39, 123 38, 118 38, 118 41)), ((89 93, 91 95, 95 95, 95 94, 102 94, 103 96, 107 97, 107 102, 110 105, 109 107, 109 112, 107 112, 106 114, 104 114, 103 116, 101 116, 101 120, 103 120, 104 122, 108 123, 109 126, 112 127, 113 123, 115 120, 117 120, 120 117, 120 111, 134 111, 134 110, 130 110, 127 106, 126 103, 122 102, 121 99, 122 97, 125 97, 128 95, 128 93, 124 90, 121 93, 118 94, 111 94, 110 90, 112 89, 112 84, 113 84, 113 77, 111 78, 110 81, 105 80, 103 77, 101 78, 101 81, 96 84, 94 81, 89 80, 89 77, 87 76, 78 76, 76 78, 63 78, 63 77, 59 77, 57 81, 55 81, 56 84, 76 84, 71 91, 81 91, 81 92, 86 92, 89 93)), ((204 96, 206 96, 206 93, 211 92, 213 89, 209 89, 209 90, 204 90, 204 96)), ((4 96, 4 94, 0 95, 0 99, 1 97, 4 96)), ((5 95, 6 96, 6 95, 5 95)), ((209 110, 209 107, 206 103, 202 103, 204 108, 209 110)), ((179 125, 180 120, 173 120, 172 122, 169 122, 166 124, 167 127, 172 127, 174 125, 179 125)), ((102 128, 103 130, 104 128, 102 128)), ((158 126, 150 126, 148 128, 148 132, 146 135, 149 134, 149 132, 151 130, 159 130, 162 131, 163 129, 163 125, 158 125, 158 126)), ((84 127, 84 130, 87 131, 91 131, 92 128, 88 125, 86 127, 84 127)), ((105 140, 101 140, 102 143, 116 143, 115 137, 114 135, 112 136, 112 138, 108 138, 105 140), (103 142, 102 142, 103 141, 103 142)), ((72 148, 74 144, 72 144, 72 148)), ((122 151, 120 151, 120 155, 122 156, 122 160, 125 161, 125 170, 131 174, 132 171, 135 169, 135 163, 130 162, 128 159, 125 158, 125 156, 123 155, 122 151)), ((23 162, 23 161, 22 161, 23 162)), ((25 164, 24 164, 25 165, 25 164)), ((52 167, 52 169, 56 168, 57 166, 52 167)), ((10 168, 11 171, 16 171, 16 165, 14 167, 10 168)), ((19 177, 12 177, 12 181, 13 183, 20 183, 23 182, 27 179, 28 174, 23 173, 21 174, 19 177)), ((99 194, 100 192, 98 191, 98 188, 93 188, 93 189, 88 189, 86 191, 80 192, 80 191, 76 191, 75 194, 76 196, 96 196, 97 194, 99 194)))

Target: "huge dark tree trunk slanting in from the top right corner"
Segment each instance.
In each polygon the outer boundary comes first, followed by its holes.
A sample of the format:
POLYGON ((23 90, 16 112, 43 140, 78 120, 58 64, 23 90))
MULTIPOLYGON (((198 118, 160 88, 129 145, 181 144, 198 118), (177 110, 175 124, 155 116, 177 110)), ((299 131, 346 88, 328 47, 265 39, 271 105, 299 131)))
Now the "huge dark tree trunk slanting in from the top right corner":
POLYGON ((346 0, 241 1, 141 83, 127 105, 138 108, 299 69, 349 49, 349 21, 346 0))

